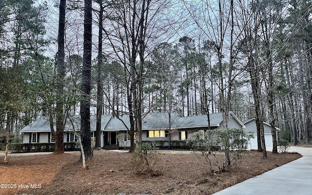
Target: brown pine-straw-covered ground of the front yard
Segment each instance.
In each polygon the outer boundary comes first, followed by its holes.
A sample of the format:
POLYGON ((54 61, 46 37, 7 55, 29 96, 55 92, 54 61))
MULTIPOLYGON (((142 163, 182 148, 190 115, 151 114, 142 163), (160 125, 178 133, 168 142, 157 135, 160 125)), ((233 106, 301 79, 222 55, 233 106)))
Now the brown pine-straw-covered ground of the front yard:
POLYGON ((94 151, 89 170, 81 168, 79 155, 9 156, 7 165, 1 159, 0 184, 7 185, 1 185, 0 195, 211 195, 301 157, 268 152, 263 159, 262 153, 247 151, 239 168, 211 176, 200 155, 161 152, 155 167, 161 176, 148 176, 133 170, 129 153, 94 151))

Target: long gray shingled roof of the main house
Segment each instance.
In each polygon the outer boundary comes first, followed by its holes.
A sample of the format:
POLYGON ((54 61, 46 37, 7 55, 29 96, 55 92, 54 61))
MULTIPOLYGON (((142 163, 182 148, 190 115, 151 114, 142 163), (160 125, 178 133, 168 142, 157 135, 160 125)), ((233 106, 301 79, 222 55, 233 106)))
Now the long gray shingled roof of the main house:
MULTIPOLYGON (((223 120, 221 113, 210 114, 210 126, 217 127, 223 120)), ((80 129, 80 117, 75 116, 73 125, 75 129, 80 129)), ((240 121, 239 121, 240 122, 240 121)), ((241 123, 241 122, 240 122, 241 123)), ((67 119, 64 131, 73 131, 71 120, 67 119)), ((242 124, 243 126, 243 124, 242 124)), ((96 130, 96 116, 90 116, 91 130, 96 130)), ((171 114, 171 128, 196 128, 208 127, 207 115, 197 115, 191 117, 178 117, 175 113, 171 114)), ((142 130, 157 130, 169 128, 168 113, 142 113, 142 130)), ((54 121, 54 129, 56 125, 54 121)), ((121 131, 130 129, 128 115, 120 118, 113 118, 112 115, 102 115, 101 129, 104 131, 121 131), (126 125, 126 126, 125 126, 126 125)), ((42 116, 35 120, 31 125, 26 126, 20 132, 50 132, 49 118, 42 116)))

